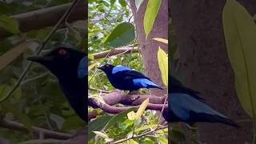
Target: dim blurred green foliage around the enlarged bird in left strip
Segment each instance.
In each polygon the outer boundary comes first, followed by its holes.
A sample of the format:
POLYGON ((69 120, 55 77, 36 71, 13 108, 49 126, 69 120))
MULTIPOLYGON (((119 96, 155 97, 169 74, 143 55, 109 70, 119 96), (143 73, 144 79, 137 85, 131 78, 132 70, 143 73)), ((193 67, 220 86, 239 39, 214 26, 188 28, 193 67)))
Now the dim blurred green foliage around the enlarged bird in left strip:
MULTIPOLYGON (((59 89, 57 79, 38 64, 31 66, 26 79, 23 80, 14 94, 6 98, 6 94, 17 82, 28 63, 26 57, 34 54, 53 28, 53 26, 47 26, 39 30, 22 33, 18 30, 17 20, 10 18, 10 16, 70 2, 71 0, 0 0, 0 28, 12 32, 12 34, 17 32, 8 38, 0 39, 0 65, 8 61, 5 59, 5 54, 8 52, 10 52, 10 57, 15 56, 13 62, 0 69, 0 121, 5 118, 21 122, 28 128, 38 126, 67 133, 74 132, 74 130, 84 126, 74 111, 70 109, 66 98, 59 89), (29 42, 29 45, 24 48, 22 54, 16 56, 15 53, 23 49, 20 45, 22 42, 29 42)), ((47 42, 42 54, 56 46, 69 46, 86 51, 86 21, 79 20, 61 27, 47 42)), ((17 143, 38 138, 38 135, 30 132, 30 130, 29 132, 20 132, 0 127, 1 138, 11 143, 17 143)))

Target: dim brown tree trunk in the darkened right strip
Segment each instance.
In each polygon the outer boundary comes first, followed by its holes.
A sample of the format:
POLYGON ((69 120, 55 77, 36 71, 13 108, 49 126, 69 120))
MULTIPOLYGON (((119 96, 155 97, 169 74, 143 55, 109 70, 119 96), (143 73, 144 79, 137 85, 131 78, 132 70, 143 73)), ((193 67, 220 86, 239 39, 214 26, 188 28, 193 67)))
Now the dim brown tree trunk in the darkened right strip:
MULTIPOLYGON (((178 42, 178 75, 206 102, 235 121, 249 119, 234 89, 234 72, 226 54, 222 28, 224 0, 171 0, 170 11, 178 42)), ((256 1, 240 0, 251 14, 256 1)), ((201 142, 243 144, 252 138, 252 123, 241 129, 221 124, 198 124, 201 142)))

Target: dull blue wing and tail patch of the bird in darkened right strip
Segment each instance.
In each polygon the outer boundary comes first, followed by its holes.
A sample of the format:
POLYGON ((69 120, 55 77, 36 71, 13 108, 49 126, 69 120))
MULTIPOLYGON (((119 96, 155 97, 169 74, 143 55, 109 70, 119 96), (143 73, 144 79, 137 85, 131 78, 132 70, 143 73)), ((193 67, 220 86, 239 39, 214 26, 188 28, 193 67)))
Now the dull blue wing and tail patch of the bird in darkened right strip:
POLYGON ((198 99, 191 97, 189 94, 173 93, 170 95, 169 101, 170 109, 184 121, 190 118, 190 112, 196 114, 218 115, 222 118, 227 118, 225 115, 220 114, 218 111, 207 106, 205 103, 198 101, 198 99))

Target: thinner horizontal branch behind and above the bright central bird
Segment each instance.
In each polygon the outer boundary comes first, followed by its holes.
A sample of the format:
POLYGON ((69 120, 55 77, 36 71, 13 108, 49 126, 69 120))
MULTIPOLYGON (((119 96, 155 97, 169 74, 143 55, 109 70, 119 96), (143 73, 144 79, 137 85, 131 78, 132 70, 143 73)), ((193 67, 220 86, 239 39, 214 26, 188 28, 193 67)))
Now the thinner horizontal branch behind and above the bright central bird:
POLYGON ((109 54, 109 56, 113 56, 113 55, 118 55, 118 54, 128 54, 128 53, 138 53, 138 47, 133 47, 132 46, 125 46, 122 48, 116 48, 114 50, 111 51, 107 50, 107 51, 103 51, 103 52, 99 52, 96 54, 93 54, 94 59, 98 59, 98 58, 105 58, 107 54, 109 54))

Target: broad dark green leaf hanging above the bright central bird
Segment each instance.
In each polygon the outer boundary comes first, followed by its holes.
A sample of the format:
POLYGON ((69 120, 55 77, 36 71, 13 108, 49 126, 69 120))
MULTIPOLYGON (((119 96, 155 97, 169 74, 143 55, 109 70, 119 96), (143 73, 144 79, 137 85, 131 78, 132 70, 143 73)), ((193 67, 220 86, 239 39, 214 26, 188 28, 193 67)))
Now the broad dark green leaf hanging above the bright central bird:
POLYGON ((125 46, 135 38, 134 25, 130 22, 122 22, 114 28, 112 33, 103 41, 104 44, 113 47, 125 46))

